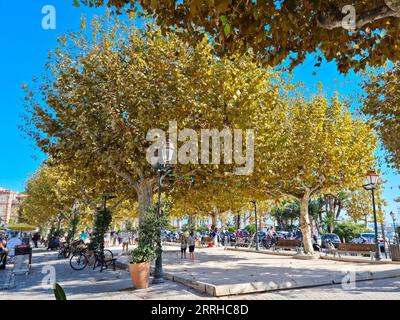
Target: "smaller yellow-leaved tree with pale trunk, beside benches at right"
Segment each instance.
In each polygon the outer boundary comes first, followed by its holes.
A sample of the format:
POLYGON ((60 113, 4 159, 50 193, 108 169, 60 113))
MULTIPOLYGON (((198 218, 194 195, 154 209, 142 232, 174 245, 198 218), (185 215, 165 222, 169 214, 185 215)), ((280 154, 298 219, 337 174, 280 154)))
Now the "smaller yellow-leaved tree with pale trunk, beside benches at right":
POLYGON ((359 186, 374 166, 376 137, 337 97, 328 100, 322 95, 294 97, 275 110, 272 130, 263 127, 258 130, 252 179, 264 184, 267 193, 299 200, 305 252, 313 252, 310 198, 359 186))

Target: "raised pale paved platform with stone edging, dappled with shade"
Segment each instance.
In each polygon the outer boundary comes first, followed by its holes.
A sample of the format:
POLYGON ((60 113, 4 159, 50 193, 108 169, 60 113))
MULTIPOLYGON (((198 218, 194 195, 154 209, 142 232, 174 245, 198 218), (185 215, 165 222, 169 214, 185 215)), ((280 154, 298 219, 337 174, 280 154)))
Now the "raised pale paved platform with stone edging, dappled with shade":
MULTIPOLYGON (((298 260, 223 248, 200 249, 195 262, 182 260, 179 252, 165 252, 163 262, 167 279, 212 296, 341 284, 347 278, 359 281, 400 276, 399 266, 394 264, 298 260)), ((126 263, 126 259, 118 262, 124 268, 126 263)))

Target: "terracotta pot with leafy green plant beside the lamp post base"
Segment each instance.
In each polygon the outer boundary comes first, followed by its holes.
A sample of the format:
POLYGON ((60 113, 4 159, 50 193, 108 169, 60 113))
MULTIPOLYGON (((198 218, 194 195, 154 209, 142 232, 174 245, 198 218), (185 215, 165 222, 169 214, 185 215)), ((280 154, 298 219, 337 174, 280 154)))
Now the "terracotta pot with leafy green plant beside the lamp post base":
POLYGON ((155 257, 155 249, 149 245, 139 245, 130 252, 129 273, 136 289, 149 287, 150 262, 155 257))

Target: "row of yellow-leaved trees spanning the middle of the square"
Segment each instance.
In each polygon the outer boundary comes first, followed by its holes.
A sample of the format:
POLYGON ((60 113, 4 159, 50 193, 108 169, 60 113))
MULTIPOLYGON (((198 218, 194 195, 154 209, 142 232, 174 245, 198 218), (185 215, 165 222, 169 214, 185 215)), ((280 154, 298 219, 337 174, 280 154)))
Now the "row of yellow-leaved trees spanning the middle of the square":
POLYGON ((170 121, 196 131, 250 128, 251 175, 234 175, 234 164, 178 164, 166 196, 176 214, 214 215, 251 199, 295 199, 312 253, 310 200, 358 189, 374 166, 376 137, 361 116, 338 97, 305 97, 252 53, 217 57, 206 37, 193 47, 151 24, 139 30, 109 16, 82 28, 60 39, 40 84, 25 87, 25 130, 49 156, 44 171, 68 177, 50 185, 68 189, 54 214, 76 199, 93 207, 112 192, 117 203, 137 203, 143 219, 157 187, 146 161, 150 129, 167 132, 170 121))

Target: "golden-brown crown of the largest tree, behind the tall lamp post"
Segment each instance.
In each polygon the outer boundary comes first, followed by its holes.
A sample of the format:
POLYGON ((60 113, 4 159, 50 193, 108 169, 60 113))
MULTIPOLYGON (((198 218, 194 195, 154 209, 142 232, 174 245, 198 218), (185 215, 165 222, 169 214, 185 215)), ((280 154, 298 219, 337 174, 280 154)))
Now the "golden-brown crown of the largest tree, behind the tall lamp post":
MULTIPOLYGON (((95 19, 91 33, 82 28, 60 39, 41 85, 26 88, 27 131, 54 163, 72 173, 82 168, 83 185, 103 191, 108 181, 137 199, 141 216, 157 186, 146 159, 150 130, 168 132, 170 121, 178 129, 246 130, 280 98, 282 83, 270 69, 250 55, 217 58, 206 38, 192 48, 152 25, 140 30, 110 17, 95 19)), ((178 164, 175 172, 185 176, 199 166, 178 164)), ((211 179, 234 168, 200 171, 211 179)))

